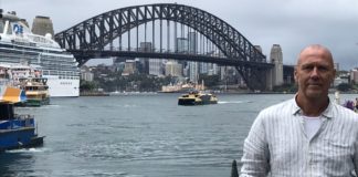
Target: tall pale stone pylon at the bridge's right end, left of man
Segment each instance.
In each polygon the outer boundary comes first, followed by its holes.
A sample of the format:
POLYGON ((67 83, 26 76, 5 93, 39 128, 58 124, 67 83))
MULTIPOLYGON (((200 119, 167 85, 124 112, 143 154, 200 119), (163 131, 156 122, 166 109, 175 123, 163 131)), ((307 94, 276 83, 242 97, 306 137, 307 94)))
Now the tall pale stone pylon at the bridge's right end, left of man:
POLYGON ((280 44, 273 44, 270 53, 270 61, 274 64, 272 72, 272 84, 274 86, 283 84, 283 56, 280 44))

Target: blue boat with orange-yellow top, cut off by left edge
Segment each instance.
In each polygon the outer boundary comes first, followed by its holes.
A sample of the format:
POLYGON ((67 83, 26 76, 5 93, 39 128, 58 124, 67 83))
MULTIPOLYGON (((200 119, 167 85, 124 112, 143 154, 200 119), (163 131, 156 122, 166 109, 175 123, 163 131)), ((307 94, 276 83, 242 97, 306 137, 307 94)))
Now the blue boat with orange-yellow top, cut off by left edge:
POLYGON ((43 144, 32 115, 18 115, 13 104, 25 100, 24 93, 0 79, 0 152, 35 147, 43 144))

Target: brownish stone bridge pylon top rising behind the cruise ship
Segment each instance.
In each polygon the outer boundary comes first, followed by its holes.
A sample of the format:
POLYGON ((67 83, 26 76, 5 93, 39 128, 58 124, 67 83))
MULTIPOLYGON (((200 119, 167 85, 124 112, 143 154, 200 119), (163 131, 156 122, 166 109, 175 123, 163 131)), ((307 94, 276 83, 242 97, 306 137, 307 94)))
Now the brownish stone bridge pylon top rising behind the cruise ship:
POLYGON ((53 38, 54 31, 53 31, 52 20, 49 17, 36 15, 32 22, 31 31, 32 33, 39 35, 45 35, 46 33, 50 33, 51 37, 53 38))

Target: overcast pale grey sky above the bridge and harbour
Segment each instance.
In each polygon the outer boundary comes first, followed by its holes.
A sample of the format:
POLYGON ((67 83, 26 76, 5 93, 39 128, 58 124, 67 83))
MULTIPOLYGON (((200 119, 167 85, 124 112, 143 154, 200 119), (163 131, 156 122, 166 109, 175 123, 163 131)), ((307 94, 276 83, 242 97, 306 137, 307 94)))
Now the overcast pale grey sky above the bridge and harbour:
POLYGON ((340 69, 358 66, 358 0, 0 0, 4 11, 17 11, 32 24, 50 17, 55 33, 94 15, 128 6, 180 3, 224 20, 270 58, 280 44, 284 64, 295 64, 298 52, 319 43, 331 50, 340 69))

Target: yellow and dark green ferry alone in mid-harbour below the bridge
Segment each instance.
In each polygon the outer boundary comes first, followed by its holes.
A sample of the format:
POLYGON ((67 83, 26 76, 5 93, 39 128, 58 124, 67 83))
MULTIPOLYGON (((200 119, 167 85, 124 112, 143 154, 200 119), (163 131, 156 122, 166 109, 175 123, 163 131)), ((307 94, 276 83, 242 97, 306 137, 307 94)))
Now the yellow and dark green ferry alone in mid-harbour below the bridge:
POLYGON ((191 91, 188 94, 183 94, 178 98, 178 105, 191 106, 206 104, 218 104, 218 97, 211 93, 191 91))

